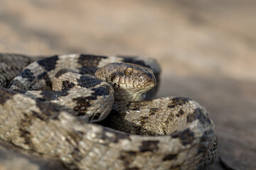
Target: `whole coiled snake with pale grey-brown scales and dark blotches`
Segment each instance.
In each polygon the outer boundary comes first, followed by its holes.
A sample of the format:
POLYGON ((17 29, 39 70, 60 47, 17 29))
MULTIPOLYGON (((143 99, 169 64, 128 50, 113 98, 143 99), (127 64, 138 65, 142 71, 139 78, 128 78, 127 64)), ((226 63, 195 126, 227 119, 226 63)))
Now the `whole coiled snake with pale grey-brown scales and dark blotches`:
POLYGON ((1 53, 0 139, 68 169, 207 169, 213 120, 191 98, 154 98, 160 72, 144 57, 1 53))

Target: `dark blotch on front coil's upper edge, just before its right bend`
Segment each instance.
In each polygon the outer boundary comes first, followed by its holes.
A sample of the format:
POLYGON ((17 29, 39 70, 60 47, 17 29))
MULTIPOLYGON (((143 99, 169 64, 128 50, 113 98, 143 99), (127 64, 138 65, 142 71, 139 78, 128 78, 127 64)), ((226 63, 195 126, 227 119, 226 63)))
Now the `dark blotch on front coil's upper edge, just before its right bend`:
POLYGON ((191 144, 194 140, 194 134, 189 128, 181 132, 174 132, 171 135, 171 137, 179 138, 181 140, 182 145, 191 144))

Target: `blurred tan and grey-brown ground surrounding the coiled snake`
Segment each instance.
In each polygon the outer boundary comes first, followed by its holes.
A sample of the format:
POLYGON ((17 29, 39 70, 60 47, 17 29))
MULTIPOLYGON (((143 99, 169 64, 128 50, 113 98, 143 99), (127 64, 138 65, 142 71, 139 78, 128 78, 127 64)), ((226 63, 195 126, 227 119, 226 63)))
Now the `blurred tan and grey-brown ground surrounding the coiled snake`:
MULTIPOLYGON (((256 1, 0 0, 0 52, 142 55, 157 97, 206 106, 219 138, 210 169, 255 169, 256 1)), ((0 169, 64 169, 0 141, 0 169)))

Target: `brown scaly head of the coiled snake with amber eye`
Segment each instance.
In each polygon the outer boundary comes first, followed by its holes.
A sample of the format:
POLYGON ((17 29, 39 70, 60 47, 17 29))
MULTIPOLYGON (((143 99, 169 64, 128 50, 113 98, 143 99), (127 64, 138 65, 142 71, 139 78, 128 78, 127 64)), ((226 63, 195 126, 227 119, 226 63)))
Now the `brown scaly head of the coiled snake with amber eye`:
POLYGON ((144 100, 146 91, 156 86, 152 70, 138 64, 107 64, 97 70, 95 77, 112 84, 115 101, 144 100))

